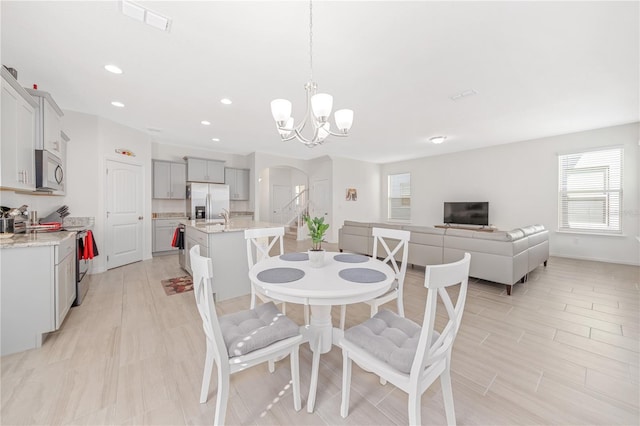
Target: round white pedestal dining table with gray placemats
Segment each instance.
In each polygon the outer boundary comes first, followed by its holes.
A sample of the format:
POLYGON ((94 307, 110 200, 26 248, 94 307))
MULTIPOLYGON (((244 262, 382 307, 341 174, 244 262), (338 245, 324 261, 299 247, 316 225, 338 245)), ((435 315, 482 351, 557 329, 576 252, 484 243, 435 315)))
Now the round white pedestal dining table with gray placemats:
POLYGON ((267 297, 309 305, 311 319, 301 327, 314 352, 307 411, 312 412, 318 378, 319 354, 337 343, 331 306, 364 302, 384 294, 395 279, 393 269, 368 256, 326 252, 321 267, 310 265, 306 253, 285 253, 256 263, 249 278, 267 297))

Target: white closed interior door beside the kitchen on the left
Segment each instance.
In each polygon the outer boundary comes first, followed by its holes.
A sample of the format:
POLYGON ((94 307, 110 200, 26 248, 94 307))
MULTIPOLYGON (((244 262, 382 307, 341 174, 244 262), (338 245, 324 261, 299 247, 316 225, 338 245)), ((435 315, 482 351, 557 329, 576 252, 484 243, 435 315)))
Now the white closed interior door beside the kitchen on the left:
POLYGON ((107 161, 107 269, 142 260, 142 167, 107 161))

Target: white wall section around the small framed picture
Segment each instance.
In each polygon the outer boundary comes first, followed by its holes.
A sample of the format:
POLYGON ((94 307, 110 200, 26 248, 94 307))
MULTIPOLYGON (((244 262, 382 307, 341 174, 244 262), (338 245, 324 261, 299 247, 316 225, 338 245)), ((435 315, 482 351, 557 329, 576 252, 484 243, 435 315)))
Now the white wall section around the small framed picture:
POLYGON ((332 160, 333 231, 337 233, 345 220, 379 221, 380 165, 346 158, 332 160), (356 201, 346 201, 347 188, 356 188, 356 201))

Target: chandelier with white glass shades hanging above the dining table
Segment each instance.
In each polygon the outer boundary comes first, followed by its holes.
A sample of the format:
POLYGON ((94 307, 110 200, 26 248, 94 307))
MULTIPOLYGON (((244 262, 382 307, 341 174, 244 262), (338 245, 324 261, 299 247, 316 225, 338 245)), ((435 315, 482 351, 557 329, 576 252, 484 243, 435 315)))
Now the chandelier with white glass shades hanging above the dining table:
POLYGON ((335 112, 334 119, 337 132, 331 130, 328 119, 333 107, 333 96, 326 93, 317 93, 318 85, 313 81, 313 6, 309 0, 309 69, 310 77, 304 90, 307 93, 307 111, 302 122, 294 127, 291 117, 291 102, 286 99, 271 101, 271 114, 276 120, 276 126, 283 141, 298 139, 309 148, 320 145, 329 136, 347 136, 353 124, 353 110, 341 109, 335 112), (311 137, 305 137, 302 130, 309 125, 312 129, 311 137))

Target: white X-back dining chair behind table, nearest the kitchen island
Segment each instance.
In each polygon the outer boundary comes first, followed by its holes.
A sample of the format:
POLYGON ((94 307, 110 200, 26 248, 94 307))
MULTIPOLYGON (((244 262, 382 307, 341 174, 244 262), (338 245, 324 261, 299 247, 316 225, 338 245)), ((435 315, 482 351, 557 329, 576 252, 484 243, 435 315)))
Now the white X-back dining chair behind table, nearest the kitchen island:
MULTIPOLYGON (((247 229, 244 231, 244 238, 247 241, 247 262, 249 269, 262 259, 270 257, 271 249, 275 247, 276 244, 280 247, 280 252, 277 255, 280 256, 284 254, 284 227, 247 229)), ((282 312, 287 313, 285 302, 270 299, 252 282, 251 304, 249 306, 251 309, 256 306, 256 298, 263 302, 273 301, 274 303, 282 304, 282 312)), ((307 305, 304 305, 304 321, 305 324, 309 324, 309 307, 307 305)))

